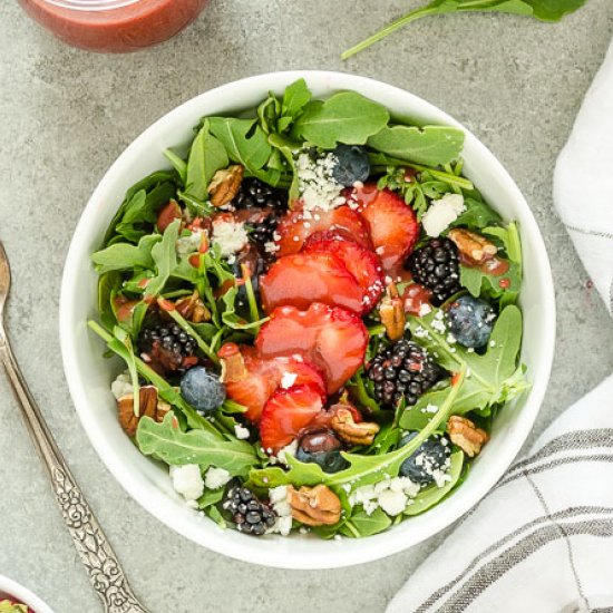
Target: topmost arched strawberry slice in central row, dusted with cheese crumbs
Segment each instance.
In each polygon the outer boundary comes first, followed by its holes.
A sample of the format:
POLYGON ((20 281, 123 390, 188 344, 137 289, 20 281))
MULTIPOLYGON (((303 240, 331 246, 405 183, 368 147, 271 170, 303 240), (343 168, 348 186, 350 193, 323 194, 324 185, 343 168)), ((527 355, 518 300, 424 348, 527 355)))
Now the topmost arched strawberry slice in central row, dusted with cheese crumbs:
POLYGON ((276 226, 278 257, 298 253, 311 234, 325 231, 333 231, 363 247, 371 246, 368 224, 359 213, 346 204, 332 211, 303 211, 299 207, 289 211, 276 226))

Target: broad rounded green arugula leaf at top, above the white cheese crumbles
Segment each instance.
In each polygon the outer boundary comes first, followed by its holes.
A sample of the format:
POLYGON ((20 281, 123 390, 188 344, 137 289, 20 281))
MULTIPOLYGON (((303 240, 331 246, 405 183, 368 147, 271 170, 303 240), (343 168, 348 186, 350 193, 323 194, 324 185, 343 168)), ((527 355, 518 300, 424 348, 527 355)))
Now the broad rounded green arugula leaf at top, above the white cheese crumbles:
POLYGON ((364 145, 389 121, 389 111, 356 91, 334 94, 325 101, 309 103, 292 128, 292 138, 324 149, 337 143, 364 145))

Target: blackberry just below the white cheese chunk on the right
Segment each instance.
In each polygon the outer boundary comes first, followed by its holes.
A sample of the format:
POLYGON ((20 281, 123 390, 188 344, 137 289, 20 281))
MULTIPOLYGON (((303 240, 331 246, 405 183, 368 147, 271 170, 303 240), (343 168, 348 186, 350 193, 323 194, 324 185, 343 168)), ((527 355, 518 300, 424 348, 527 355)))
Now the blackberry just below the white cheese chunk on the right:
POLYGON ((432 239, 413 251, 406 265, 415 281, 432 292, 435 306, 461 290, 458 250, 449 239, 432 239))

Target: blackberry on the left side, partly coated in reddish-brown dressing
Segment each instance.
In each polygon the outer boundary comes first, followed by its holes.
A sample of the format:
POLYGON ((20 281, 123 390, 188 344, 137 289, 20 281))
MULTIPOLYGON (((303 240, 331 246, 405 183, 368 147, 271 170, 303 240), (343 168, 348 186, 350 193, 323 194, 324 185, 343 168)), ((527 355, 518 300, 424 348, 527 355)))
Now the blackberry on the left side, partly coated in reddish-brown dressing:
POLYGON ((145 328, 138 338, 140 354, 160 374, 196 364, 196 341, 174 322, 145 328))

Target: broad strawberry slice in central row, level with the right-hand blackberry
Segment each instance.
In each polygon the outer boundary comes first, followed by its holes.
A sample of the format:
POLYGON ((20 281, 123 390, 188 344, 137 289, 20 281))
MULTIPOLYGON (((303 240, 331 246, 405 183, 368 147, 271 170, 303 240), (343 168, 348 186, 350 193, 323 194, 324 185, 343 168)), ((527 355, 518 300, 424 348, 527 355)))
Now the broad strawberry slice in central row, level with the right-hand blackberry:
POLYGON ((363 311, 363 292, 342 260, 331 253, 295 253, 278 260, 260 279, 266 313, 289 304, 308 309, 312 302, 363 311))

